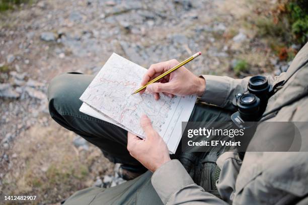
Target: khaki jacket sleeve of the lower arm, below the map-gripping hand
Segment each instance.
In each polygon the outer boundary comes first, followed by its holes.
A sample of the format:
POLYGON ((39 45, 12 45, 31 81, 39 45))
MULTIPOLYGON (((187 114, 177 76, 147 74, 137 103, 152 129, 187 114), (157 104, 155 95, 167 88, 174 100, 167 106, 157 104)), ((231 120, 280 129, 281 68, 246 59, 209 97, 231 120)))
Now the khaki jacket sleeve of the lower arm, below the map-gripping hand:
POLYGON ((194 183, 178 160, 171 160, 156 170, 151 178, 164 204, 227 204, 194 183))

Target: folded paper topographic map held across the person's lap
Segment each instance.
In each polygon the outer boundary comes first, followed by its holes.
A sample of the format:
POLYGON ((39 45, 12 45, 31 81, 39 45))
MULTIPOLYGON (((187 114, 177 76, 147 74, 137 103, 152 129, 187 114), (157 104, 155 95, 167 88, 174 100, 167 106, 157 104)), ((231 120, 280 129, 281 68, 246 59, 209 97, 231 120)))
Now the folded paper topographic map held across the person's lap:
POLYGON ((174 153, 182 134, 182 121, 189 120, 196 96, 161 95, 155 100, 150 93, 131 93, 140 86, 146 69, 113 53, 80 99, 80 111, 118 125, 141 138, 140 117, 147 115, 154 129, 174 153))

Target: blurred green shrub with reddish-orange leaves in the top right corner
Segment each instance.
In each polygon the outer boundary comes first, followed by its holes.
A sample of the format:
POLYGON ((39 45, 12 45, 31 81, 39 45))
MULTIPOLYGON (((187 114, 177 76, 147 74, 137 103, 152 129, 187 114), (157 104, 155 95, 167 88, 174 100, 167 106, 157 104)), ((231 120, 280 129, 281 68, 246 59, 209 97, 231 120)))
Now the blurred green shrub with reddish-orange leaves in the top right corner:
POLYGON ((279 60, 290 61, 308 40, 307 1, 278 1, 273 8, 261 10, 252 25, 257 28, 257 37, 268 43, 279 60))

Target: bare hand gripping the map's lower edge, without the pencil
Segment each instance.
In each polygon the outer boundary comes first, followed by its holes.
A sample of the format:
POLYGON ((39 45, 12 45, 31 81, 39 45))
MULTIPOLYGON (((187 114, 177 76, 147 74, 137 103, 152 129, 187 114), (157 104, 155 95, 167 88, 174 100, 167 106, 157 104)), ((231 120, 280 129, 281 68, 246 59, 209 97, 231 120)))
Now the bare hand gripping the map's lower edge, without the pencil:
POLYGON ((163 138, 153 129, 150 119, 143 115, 141 127, 146 139, 140 139, 128 132, 127 150, 148 170, 155 172, 164 163, 170 161, 169 151, 163 138))

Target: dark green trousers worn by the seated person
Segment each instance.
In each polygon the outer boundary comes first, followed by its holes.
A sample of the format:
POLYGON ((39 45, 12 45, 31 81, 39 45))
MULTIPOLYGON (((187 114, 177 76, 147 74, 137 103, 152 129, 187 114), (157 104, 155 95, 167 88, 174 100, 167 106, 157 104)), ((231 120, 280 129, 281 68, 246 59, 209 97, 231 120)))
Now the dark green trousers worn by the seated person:
MULTIPOLYGON (((49 112, 52 119, 99 147, 110 161, 141 166, 126 149, 127 131, 79 112, 82 105, 79 97, 93 78, 94 75, 70 72, 52 79, 48 87, 49 112)), ((230 114, 223 109, 197 102, 189 121, 230 121, 230 114)), ((218 195, 215 186, 217 178, 215 161, 221 152, 221 150, 213 150, 206 153, 188 153, 182 152, 181 145, 179 145, 176 154, 171 155, 171 158, 179 159, 198 185, 218 195)), ((151 175, 152 173, 147 171, 115 187, 107 189, 90 187, 77 191, 66 199, 65 204, 162 204, 151 185, 151 175)))

